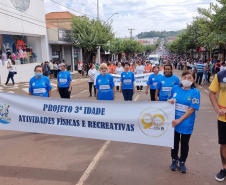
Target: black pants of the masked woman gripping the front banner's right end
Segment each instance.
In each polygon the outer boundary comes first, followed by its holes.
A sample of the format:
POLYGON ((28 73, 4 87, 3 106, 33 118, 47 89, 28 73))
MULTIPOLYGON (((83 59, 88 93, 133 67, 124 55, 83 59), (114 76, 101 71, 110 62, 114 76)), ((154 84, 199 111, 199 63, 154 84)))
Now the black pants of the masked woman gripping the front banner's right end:
POLYGON ((171 157, 172 159, 179 159, 180 162, 186 162, 189 151, 189 140, 191 134, 180 134, 175 131, 174 135, 174 149, 171 149, 171 157), (180 158, 178 157, 179 151, 179 143, 181 143, 180 147, 180 158))

